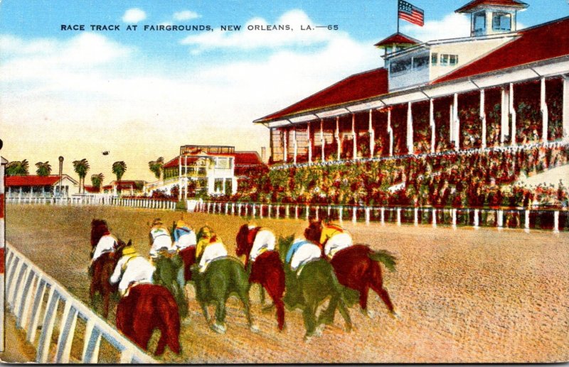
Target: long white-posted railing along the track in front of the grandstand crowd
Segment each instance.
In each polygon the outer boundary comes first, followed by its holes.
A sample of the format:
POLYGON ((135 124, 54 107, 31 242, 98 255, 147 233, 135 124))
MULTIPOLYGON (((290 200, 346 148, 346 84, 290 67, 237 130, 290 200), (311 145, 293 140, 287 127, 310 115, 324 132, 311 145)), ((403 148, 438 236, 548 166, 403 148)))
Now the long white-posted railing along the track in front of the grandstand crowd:
POLYGON ((338 221, 430 225, 495 227, 498 230, 511 228, 569 231, 568 209, 543 208, 447 208, 447 207, 366 207, 314 204, 267 204, 258 202, 202 202, 196 212, 225 214, 252 218, 316 219, 329 217, 338 221))

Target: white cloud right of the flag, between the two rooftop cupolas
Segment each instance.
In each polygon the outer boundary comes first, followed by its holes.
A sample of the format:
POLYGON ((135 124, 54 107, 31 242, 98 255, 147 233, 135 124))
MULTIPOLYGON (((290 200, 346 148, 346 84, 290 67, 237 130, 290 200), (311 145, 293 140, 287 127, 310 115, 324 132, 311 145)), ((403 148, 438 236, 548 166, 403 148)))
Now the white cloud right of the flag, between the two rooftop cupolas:
POLYGON ((468 37, 470 35, 470 18, 463 14, 450 13, 440 21, 426 21, 422 27, 405 24, 402 31, 406 35, 423 42, 468 37))

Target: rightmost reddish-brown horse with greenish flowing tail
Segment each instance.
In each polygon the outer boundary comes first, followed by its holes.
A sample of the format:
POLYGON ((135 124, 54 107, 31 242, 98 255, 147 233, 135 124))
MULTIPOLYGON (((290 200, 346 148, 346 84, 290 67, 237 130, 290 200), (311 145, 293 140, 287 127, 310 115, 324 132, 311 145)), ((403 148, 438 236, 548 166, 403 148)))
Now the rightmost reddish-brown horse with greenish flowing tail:
MULTIPOLYGON (((304 230, 304 236, 309 241, 319 243, 321 231, 321 221, 311 220, 307 229, 304 230)), ((373 251, 367 245, 355 244, 338 251, 330 263, 340 284, 358 292, 359 305, 363 314, 371 317, 368 312, 368 291, 371 288, 381 297, 390 315, 397 317, 389 293, 383 287, 383 275, 379 265, 381 262, 388 270, 395 271, 396 260, 395 256, 388 251, 373 251)))

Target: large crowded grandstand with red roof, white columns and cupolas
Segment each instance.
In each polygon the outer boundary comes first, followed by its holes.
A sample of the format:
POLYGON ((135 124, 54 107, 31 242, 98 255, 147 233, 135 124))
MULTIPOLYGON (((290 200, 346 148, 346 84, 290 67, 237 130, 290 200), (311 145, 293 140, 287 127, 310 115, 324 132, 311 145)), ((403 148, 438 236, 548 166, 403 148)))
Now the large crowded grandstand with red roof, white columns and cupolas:
POLYGON ((527 7, 471 1, 470 37, 395 33, 376 44, 385 67, 253 121, 271 170, 232 199, 567 208, 567 177, 546 172, 569 158, 569 18, 517 31, 527 7))

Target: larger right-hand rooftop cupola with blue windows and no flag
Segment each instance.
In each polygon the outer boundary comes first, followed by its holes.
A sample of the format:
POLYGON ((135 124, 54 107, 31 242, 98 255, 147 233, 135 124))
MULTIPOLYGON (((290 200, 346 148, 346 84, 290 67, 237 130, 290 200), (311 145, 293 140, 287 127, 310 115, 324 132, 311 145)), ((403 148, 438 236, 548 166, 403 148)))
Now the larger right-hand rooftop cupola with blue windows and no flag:
POLYGON ((470 35, 493 35, 516 31, 516 15, 529 5, 518 0, 473 0, 456 13, 470 14, 470 35))

